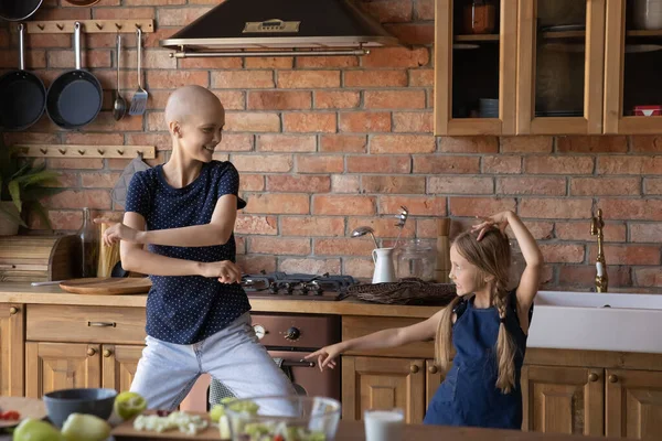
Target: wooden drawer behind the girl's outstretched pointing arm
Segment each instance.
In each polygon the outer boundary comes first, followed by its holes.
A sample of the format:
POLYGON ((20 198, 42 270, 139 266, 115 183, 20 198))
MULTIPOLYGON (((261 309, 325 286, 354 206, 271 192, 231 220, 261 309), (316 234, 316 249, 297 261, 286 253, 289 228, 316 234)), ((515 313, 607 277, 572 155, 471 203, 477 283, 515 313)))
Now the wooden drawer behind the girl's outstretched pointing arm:
MULTIPOLYGON (((350 340, 373 332, 386 330, 389 327, 409 326, 423 321, 424 319, 401 319, 401 318, 369 318, 369 316, 343 316, 342 318, 342 340, 350 340)), ((348 351, 348 355, 381 355, 398 358, 434 358, 435 343, 421 342, 412 343, 401 347, 374 349, 374 351, 348 351)))

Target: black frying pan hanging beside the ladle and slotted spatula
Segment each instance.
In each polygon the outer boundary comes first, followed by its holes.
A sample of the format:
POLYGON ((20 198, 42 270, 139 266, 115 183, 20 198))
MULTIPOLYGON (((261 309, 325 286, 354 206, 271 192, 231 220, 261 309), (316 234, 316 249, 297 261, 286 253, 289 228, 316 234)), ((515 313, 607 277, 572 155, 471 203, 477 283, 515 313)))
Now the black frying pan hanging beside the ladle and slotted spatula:
POLYGON ((104 99, 99 80, 81 69, 81 23, 74 24, 74 50, 76 69, 60 75, 46 96, 46 111, 55 125, 63 129, 79 129, 92 122, 104 99))

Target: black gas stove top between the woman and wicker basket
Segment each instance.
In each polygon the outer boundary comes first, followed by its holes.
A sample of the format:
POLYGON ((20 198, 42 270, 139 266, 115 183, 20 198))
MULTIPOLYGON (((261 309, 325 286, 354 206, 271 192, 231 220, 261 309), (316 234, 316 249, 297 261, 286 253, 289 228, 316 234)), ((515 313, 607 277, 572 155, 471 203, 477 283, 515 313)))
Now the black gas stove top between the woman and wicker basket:
POLYGON ((352 276, 260 272, 244 275, 242 286, 253 299, 341 300, 348 288, 357 283, 352 276))

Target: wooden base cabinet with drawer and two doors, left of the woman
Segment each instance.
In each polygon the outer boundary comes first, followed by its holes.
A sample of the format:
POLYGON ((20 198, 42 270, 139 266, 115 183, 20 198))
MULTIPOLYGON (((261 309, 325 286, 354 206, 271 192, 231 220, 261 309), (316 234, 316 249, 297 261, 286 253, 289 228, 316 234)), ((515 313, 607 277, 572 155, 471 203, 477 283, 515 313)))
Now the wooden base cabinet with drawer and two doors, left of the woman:
POLYGON ((145 341, 145 310, 31 304, 25 325, 25 394, 73 387, 128 390, 145 341))

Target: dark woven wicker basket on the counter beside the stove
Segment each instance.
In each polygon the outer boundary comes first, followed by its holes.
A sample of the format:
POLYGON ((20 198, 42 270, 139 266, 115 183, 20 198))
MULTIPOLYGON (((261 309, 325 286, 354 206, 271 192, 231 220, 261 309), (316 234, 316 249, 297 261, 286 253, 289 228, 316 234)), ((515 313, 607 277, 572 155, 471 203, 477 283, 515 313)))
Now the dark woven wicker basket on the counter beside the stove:
POLYGON ((349 288, 348 294, 375 303, 444 306, 456 297, 456 287, 453 283, 403 279, 399 282, 355 284, 349 288))

